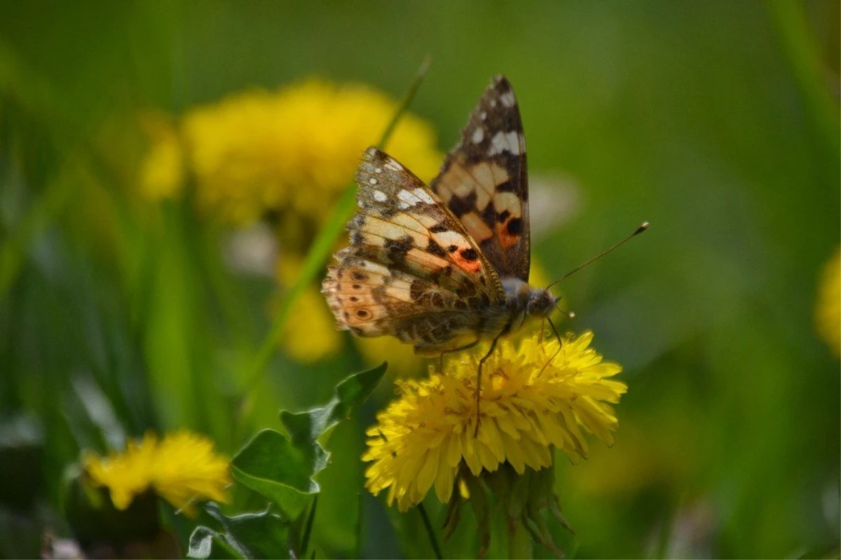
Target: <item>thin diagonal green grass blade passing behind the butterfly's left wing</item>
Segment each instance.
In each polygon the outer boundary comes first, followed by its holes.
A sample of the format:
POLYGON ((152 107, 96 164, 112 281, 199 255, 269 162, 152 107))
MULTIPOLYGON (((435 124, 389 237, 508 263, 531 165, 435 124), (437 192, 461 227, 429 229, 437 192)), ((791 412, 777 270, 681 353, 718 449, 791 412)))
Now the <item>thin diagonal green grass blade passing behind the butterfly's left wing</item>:
MULTIPOLYGON (((383 149, 383 147, 389 142, 399 119, 403 116, 403 114, 405 114, 405 111, 412 102, 412 99, 415 98, 415 93, 418 91, 418 88, 421 87, 421 82, 423 82, 424 77, 426 77, 426 71, 429 70, 429 65, 430 59, 429 56, 427 56, 415 72, 415 77, 412 79, 409 89, 406 91, 399 107, 394 112, 394 116, 389 121, 389 125, 383 131, 383 135, 377 145, 378 148, 383 149)), ((246 377, 244 394, 249 394, 251 392, 251 389, 254 387, 255 383, 257 383, 257 379, 266 367, 267 362, 271 359, 272 353, 277 347, 278 338, 283 333, 283 328, 289 320, 295 301, 299 298, 301 293, 304 292, 304 289, 312 283, 315 276, 321 272, 325 266, 325 262, 327 262, 327 259, 330 258, 330 254, 336 244, 336 240, 339 238, 339 235, 341 235, 341 231, 343 230, 346 221, 352 216, 356 203, 356 195, 356 183, 351 182, 345 189, 344 193, 341 194, 341 198, 336 204, 336 207, 333 209, 330 219, 320 231, 319 235, 315 237, 315 241, 310 247, 306 259, 304 260, 304 267, 302 267, 300 276, 292 285, 292 288, 289 289, 286 297, 283 298, 283 301, 280 304, 280 309, 278 309, 278 314, 275 315, 274 320, 272 321, 272 326, 257 350, 254 362, 251 363, 251 369, 246 377)))

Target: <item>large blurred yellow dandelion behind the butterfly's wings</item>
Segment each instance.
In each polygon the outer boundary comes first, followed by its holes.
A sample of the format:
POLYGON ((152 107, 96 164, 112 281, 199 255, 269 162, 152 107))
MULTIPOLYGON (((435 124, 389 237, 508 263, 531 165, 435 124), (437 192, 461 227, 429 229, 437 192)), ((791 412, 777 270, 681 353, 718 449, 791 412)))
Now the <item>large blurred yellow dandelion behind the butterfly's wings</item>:
MULTIPOLYGON (((373 87, 317 79, 193 108, 182 119, 181 134, 198 207, 233 224, 285 211, 318 224, 396 108, 373 87)), ((170 153, 166 143, 161 138, 153 145, 147 175, 174 174, 177 164, 164 155, 170 153)), ((412 114, 400 119, 389 153, 425 179, 442 161, 431 125, 412 114)), ((146 190, 156 198, 164 189, 146 190)))

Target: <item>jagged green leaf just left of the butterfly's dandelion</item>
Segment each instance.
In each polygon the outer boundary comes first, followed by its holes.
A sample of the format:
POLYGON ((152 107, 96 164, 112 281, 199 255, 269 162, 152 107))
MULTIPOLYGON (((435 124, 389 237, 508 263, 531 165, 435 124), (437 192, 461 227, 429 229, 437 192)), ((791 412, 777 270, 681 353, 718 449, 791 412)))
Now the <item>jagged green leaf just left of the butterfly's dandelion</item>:
POLYGON ((231 462, 237 482, 271 499, 290 519, 298 517, 309 498, 320 492, 314 477, 330 459, 320 439, 368 399, 386 367, 383 362, 345 378, 325 406, 296 413, 281 411, 288 436, 273 430, 257 433, 231 462))

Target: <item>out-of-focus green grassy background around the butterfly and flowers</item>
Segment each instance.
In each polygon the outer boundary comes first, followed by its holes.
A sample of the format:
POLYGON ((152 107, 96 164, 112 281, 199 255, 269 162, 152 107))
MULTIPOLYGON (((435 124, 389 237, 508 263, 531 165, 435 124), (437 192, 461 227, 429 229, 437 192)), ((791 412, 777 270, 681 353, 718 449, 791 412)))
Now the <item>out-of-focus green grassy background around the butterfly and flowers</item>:
MULTIPOLYGON (((197 108, 314 77, 396 101, 429 54, 411 111, 433 155, 490 77, 516 87, 545 277, 652 224, 563 285, 565 328, 594 330, 629 392, 615 446, 558 457, 576 531, 558 542, 587 558, 838 557, 841 362, 814 310, 841 244, 839 37, 832 0, 0 3, 0 554, 66 531, 61 476, 82 449, 188 427, 232 454, 349 372, 416 367, 322 328, 314 297, 254 378, 319 221, 301 240, 294 212, 233 223, 141 183, 197 108)), ((304 140, 332 138, 324 122, 304 140)), ((393 394, 386 379, 331 438, 314 530, 328 557, 428 553, 416 512, 362 488, 363 430, 393 394)), ((186 539, 192 523, 172 523, 186 539)))

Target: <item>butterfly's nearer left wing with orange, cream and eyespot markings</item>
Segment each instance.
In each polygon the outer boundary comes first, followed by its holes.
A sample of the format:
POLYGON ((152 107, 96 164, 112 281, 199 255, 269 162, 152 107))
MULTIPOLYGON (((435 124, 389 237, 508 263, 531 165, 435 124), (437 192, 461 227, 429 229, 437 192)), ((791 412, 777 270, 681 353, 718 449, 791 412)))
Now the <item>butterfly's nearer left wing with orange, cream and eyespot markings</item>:
POLYGON ((336 253, 322 293, 339 328, 394 335, 437 355, 478 339, 471 309, 504 306, 500 277, 464 225, 423 182, 369 148, 357 171, 351 245, 336 253))

